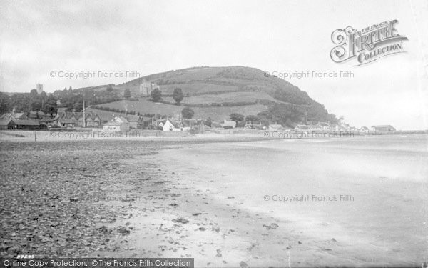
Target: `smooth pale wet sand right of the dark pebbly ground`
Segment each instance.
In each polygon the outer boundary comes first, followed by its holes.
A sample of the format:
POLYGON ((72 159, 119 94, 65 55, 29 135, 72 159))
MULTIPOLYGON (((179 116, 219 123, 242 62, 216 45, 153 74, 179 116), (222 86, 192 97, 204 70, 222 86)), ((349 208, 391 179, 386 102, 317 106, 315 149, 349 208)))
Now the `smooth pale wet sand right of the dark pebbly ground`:
POLYGON ((141 227, 130 243, 136 252, 151 244, 153 253, 164 249, 162 256, 195 257, 202 267, 419 265, 428 249, 428 155, 388 139, 163 151, 159 167, 175 178, 168 192, 180 194, 163 197, 159 203, 170 207, 161 214, 134 218, 141 227), (293 196, 309 198, 272 200, 293 196), (185 223, 173 222, 179 217, 185 223))

